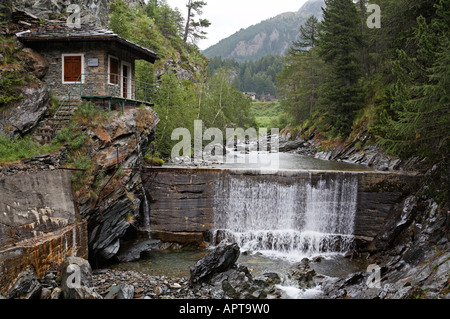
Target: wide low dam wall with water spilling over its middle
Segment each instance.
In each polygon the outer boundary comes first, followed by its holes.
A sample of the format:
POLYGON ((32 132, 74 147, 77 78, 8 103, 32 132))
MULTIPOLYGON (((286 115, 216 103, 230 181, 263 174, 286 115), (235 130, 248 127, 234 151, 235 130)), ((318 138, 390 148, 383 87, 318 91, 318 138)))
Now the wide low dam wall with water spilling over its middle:
POLYGON ((408 172, 146 168, 150 229, 162 241, 220 240, 286 254, 370 242, 413 190, 408 172))

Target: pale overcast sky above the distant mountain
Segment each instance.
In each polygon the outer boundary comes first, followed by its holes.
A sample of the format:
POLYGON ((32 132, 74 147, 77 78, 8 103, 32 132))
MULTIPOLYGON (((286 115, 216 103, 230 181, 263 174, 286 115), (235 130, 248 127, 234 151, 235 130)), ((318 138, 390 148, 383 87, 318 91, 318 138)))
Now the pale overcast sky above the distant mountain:
MULTIPOLYGON (((257 24, 277 14, 298 11, 307 0, 205 0, 202 18, 208 19, 208 39, 199 41, 201 50, 229 37, 241 28, 257 24)), ((187 0, 167 0, 172 8, 187 14, 187 0)))

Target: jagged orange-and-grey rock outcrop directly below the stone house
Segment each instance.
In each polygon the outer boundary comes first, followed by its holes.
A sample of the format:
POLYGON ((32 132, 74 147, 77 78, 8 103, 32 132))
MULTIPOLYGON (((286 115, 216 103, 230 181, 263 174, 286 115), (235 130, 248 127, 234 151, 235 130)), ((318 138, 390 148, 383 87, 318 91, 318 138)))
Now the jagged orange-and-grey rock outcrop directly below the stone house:
POLYGON ((80 214, 88 221, 90 260, 114 257, 121 238, 140 220, 143 196, 140 167, 154 138, 158 116, 151 108, 112 112, 95 127, 87 125, 92 168, 77 190, 80 214))

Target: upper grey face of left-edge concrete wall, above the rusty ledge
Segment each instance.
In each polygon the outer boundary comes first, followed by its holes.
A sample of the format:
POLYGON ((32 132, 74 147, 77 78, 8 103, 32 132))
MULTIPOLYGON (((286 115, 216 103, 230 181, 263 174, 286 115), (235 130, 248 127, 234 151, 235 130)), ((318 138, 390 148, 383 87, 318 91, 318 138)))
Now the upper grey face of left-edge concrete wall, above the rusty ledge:
POLYGON ((69 171, 3 176, 0 194, 0 247, 76 222, 69 171))

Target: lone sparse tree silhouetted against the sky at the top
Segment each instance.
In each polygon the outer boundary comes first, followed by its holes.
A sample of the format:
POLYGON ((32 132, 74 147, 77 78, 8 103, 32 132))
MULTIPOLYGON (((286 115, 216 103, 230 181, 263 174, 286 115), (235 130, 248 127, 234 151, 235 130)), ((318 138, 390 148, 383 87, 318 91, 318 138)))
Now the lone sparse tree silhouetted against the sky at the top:
POLYGON ((186 43, 190 37, 195 43, 199 39, 206 38, 206 32, 203 30, 211 25, 208 19, 194 20, 196 15, 202 15, 202 9, 206 5, 205 1, 199 0, 188 0, 186 7, 188 9, 186 26, 184 29, 183 41, 186 43))

